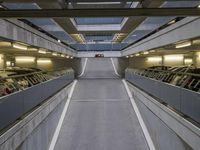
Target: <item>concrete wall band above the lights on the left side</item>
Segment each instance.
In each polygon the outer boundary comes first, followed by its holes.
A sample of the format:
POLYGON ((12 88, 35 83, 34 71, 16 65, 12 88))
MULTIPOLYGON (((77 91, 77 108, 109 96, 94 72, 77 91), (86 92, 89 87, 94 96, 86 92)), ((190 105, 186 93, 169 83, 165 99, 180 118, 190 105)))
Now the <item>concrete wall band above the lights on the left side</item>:
POLYGON ((32 46, 41 47, 68 55, 76 52, 47 35, 31 28, 17 19, 0 19, 0 36, 9 40, 23 42, 32 46))

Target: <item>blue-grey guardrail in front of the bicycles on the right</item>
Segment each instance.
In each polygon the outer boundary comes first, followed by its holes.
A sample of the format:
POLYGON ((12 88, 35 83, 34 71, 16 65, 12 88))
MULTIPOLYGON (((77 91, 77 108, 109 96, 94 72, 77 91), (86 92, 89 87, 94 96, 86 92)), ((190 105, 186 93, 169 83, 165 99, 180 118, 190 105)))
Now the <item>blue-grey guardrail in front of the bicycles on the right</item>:
MULTIPOLYGON (((152 76, 150 75, 151 77, 147 77, 145 75, 145 71, 147 70, 126 69, 125 79, 150 95, 158 98, 160 101, 167 103, 169 106, 173 107, 185 116, 188 116, 200 123, 200 92, 192 91, 181 86, 176 86, 163 82, 162 80, 158 80, 156 77, 159 77, 159 73, 156 73, 155 75, 152 72, 152 76)), ((169 71, 161 72, 165 73, 165 77, 167 73, 171 73, 169 71)), ((172 75, 173 74, 181 75, 180 81, 185 75, 199 77, 197 74, 189 73, 172 73, 172 75)))

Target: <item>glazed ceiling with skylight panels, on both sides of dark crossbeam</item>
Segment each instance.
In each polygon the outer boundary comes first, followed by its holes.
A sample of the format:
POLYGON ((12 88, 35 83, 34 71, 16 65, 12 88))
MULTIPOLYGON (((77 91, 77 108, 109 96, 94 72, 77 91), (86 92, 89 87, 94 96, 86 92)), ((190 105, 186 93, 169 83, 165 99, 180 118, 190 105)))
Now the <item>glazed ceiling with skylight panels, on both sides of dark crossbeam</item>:
MULTIPOLYGON (((196 7, 200 1, 3 0, 7 9, 96 9, 196 7)), ((24 18, 77 51, 121 51, 179 21, 174 17, 24 18), (173 21, 176 19, 175 21, 173 21)))

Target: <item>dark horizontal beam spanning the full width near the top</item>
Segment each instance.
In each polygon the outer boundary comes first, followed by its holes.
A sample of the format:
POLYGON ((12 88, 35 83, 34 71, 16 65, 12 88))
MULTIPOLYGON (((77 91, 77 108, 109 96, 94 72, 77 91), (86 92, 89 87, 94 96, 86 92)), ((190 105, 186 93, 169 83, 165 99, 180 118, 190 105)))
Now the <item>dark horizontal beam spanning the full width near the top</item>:
POLYGON ((1 10, 0 18, 200 16, 199 8, 1 10))

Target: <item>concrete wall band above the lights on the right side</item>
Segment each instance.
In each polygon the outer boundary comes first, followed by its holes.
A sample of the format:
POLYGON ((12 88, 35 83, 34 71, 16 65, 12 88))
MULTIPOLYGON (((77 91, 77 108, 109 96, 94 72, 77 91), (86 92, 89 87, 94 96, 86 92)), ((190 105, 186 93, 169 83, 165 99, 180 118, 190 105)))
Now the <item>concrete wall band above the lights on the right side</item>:
POLYGON ((147 38, 126 48, 122 56, 162 47, 180 40, 199 37, 199 17, 187 17, 147 38))

